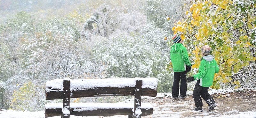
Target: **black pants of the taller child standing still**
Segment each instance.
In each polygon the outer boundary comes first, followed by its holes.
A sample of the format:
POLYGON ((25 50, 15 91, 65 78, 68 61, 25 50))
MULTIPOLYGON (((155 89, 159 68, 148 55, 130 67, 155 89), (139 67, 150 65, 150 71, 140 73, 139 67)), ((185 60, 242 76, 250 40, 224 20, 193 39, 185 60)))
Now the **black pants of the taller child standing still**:
POLYGON ((187 95, 187 73, 186 72, 174 72, 173 85, 172 85, 172 97, 180 96, 186 97, 187 95))

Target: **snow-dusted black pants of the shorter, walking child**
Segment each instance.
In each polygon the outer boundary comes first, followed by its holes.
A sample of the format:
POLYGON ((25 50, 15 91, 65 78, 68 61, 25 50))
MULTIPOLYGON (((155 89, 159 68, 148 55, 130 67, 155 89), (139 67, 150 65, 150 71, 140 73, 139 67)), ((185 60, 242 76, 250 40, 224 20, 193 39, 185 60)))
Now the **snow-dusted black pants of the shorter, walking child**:
POLYGON ((214 103, 215 101, 213 100, 212 96, 208 93, 209 87, 200 86, 199 83, 200 83, 200 80, 197 80, 195 88, 193 90, 193 97, 194 97, 196 107, 203 106, 203 101, 201 97, 204 99, 204 101, 208 105, 214 103))

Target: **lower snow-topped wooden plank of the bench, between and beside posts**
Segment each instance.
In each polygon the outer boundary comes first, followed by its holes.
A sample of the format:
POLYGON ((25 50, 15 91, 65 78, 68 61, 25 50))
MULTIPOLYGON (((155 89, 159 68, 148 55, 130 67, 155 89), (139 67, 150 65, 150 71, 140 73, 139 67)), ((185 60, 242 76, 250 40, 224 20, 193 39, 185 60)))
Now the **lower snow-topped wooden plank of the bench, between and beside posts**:
MULTIPOLYGON (((45 117, 62 114, 63 103, 45 104, 45 117)), ((70 103, 69 113, 76 116, 132 115, 134 103, 70 103)), ((65 111, 63 111, 65 112, 65 111)), ((141 103, 141 116, 153 114, 150 103, 141 103)))

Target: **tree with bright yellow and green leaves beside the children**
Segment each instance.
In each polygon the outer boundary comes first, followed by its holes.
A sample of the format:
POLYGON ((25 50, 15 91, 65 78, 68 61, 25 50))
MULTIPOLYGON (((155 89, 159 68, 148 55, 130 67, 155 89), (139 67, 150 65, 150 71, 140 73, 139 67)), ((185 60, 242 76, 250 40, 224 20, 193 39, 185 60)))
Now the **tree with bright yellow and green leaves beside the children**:
POLYGON ((220 66, 213 88, 220 88, 219 81, 236 88, 248 80, 255 81, 255 77, 249 76, 254 74, 251 69, 256 60, 255 6, 255 0, 194 0, 186 12, 188 17, 172 28, 193 48, 193 68, 199 67, 201 47, 212 47, 211 54, 220 66))

